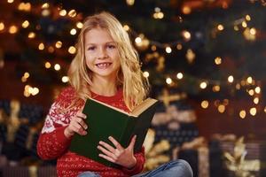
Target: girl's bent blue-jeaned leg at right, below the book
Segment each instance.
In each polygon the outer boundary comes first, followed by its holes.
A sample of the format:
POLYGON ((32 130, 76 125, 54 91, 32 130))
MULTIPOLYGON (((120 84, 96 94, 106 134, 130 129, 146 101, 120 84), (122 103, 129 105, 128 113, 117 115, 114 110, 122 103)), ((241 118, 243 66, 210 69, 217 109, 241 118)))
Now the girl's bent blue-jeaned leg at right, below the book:
POLYGON ((182 159, 173 160, 160 165, 154 170, 137 174, 134 177, 192 177, 192 167, 182 159))

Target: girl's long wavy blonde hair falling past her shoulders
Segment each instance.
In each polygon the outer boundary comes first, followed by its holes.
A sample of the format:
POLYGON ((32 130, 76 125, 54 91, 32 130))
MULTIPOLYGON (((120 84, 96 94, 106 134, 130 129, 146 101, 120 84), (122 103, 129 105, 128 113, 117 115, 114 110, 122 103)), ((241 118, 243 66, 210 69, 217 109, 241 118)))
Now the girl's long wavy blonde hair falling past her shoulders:
POLYGON ((75 89, 78 98, 83 100, 91 96, 91 71, 86 65, 84 55, 84 35, 93 28, 106 29, 117 43, 121 69, 117 74, 117 87, 122 87, 125 104, 132 110, 141 103, 148 94, 149 83, 143 77, 139 65, 137 50, 129 39, 129 34, 121 23, 108 12, 100 12, 85 19, 76 43, 77 53, 69 67, 70 85, 75 89))

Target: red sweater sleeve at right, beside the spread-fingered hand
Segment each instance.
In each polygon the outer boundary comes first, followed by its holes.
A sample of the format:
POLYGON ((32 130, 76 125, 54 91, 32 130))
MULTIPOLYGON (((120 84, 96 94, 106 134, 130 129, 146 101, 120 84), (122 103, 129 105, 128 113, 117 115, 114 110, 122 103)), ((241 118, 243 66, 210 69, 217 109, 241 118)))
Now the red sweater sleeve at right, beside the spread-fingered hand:
POLYGON ((122 171, 128 175, 134 175, 137 173, 141 173, 143 171, 144 165, 145 165, 145 148, 142 147, 142 150, 138 153, 136 153, 135 158, 137 159, 137 163, 133 168, 126 168, 122 167, 122 171))

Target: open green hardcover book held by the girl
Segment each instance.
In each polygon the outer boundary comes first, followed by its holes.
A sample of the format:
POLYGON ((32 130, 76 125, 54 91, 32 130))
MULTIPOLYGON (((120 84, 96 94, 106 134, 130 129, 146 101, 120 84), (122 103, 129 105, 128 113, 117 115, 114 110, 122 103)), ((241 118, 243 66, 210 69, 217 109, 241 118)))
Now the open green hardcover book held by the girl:
POLYGON ((104 165, 117 167, 105 158, 98 157, 101 153, 97 148, 98 142, 113 145, 108 140, 109 136, 113 136, 122 147, 127 148, 133 135, 137 135, 134 152, 140 151, 158 103, 158 100, 147 98, 128 113, 98 100, 88 99, 82 111, 87 115, 85 122, 88 134, 75 134, 69 150, 104 165))

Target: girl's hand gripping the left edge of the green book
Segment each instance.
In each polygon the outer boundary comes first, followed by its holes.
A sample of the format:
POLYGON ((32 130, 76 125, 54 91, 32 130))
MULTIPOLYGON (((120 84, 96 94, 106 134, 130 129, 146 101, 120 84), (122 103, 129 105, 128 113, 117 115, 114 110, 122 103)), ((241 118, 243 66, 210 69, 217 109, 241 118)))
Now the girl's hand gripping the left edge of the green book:
POLYGON ((77 133, 79 135, 87 134, 86 129, 88 128, 88 126, 86 125, 83 119, 86 119, 86 115, 82 112, 77 112, 77 114, 71 119, 69 125, 64 131, 64 134, 67 138, 73 136, 74 133, 77 133))

